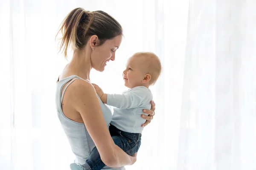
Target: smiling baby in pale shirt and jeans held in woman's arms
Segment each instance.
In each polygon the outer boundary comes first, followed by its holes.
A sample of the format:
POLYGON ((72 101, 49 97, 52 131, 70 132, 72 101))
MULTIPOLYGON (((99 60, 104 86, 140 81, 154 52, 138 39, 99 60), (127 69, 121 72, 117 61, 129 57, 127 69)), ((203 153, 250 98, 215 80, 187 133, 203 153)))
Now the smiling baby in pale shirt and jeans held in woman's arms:
MULTIPOLYGON (((105 94, 98 85, 93 84, 103 103, 114 106, 109 131, 116 145, 128 155, 138 152, 145 119, 141 118, 143 109, 150 109, 152 100, 150 85, 157 81, 162 67, 159 58, 150 52, 139 52, 128 59, 123 71, 125 86, 130 88, 122 94, 105 94)), ((85 164, 70 164, 72 170, 101 170, 101 161, 95 147, 85 164)))

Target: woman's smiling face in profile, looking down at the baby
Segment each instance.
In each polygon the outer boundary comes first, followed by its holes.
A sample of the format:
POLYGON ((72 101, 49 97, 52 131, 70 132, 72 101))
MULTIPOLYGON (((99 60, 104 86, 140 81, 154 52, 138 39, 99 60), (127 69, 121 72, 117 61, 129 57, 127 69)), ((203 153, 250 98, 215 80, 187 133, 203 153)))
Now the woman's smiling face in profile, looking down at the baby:
POLYGON ((92 67, 97 71, 104 71, 107 63, 115 60, 116 50, 122 42, 122 35, 118 35, 111 40, 106 40, 102 45, 94 46, 91 53, 92 67))

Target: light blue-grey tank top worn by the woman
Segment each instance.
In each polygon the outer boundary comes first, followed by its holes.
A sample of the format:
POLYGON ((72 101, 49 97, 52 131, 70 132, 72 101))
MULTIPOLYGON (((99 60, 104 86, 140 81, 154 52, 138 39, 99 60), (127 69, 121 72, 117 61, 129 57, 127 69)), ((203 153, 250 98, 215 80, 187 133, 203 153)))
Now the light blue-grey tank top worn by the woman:
MULTIPOLYGON (((61 126, 67 135, 67 139, 70 143, 71 149, 76 156, 75 162, 84 164, 85 160, 90 155, 92 149, 95 147, 95 144, 91 139, 84 123, 79 123, 79 122, 75 122, 73 120, 68 119, 64 115, 61 109, 61 102, 62 102, 64 93, 67 87, 76 79, 82 79, 82 78, 74 75, 74 76, 67 77, 65 79, 61 79, 57 83, 57 89, 55 94, 55 104, 57 108, 58 119, 60 120, 61 126), (62 88, 66 83, 67 85, 65 86, 61 94, 62 88)), ((104 119, 106 121, 106 125, 109 126, 109 123, 111 122, 111 118, 112 118, 111 109, 107 105, 105 105, 100 100, 100 98, 99 98, 99 102, 102 108, 104 119)), ((104 167, 103 169, 104 170, 125 170, 125 167, 120 167, 120 168, 104 167)))

